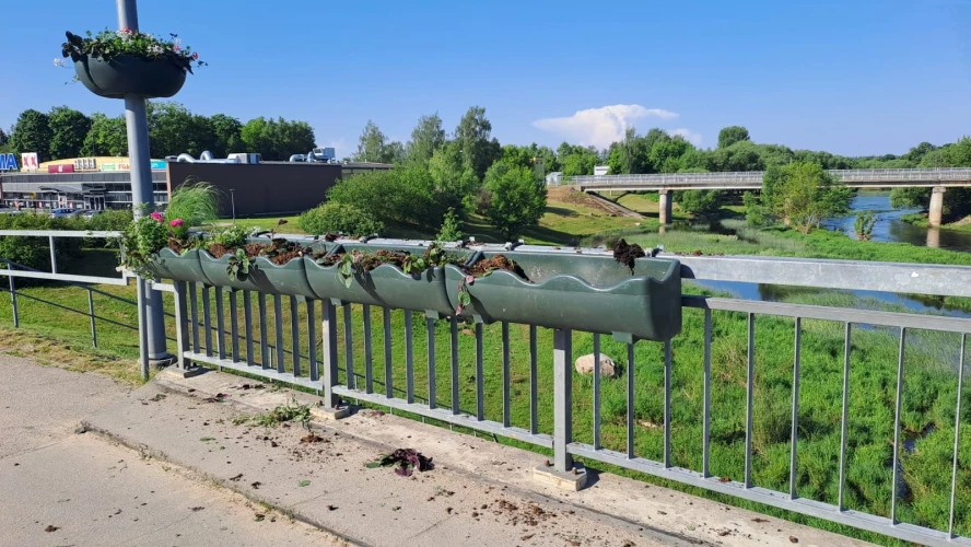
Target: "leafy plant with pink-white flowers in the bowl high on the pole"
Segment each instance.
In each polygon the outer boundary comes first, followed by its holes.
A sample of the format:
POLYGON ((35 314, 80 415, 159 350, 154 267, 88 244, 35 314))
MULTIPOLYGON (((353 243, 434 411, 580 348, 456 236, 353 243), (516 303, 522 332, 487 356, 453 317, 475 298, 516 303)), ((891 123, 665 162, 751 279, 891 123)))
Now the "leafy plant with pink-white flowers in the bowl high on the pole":
MULTIPOLYGON (((199 54, 188 46, 183 46, 182 39, 175 34, 169 34, 169 39, 161 39, 128 27, 120 31, 105 28, 96 36, 89 31, 86 37, 70 32, 65 34, 68 40, 61 45, 61 55, 65 58, 70 57, 74 62, 83 57, 110 61, 121 55, 131 55, 149 60, 167 60, 189 73, 192 72, 192 65, 196 67, 206 65, 199 60, 199 54)), ((63 60, 57 59, 55 65, 63 66, 63 60)))

